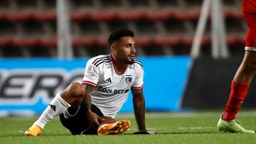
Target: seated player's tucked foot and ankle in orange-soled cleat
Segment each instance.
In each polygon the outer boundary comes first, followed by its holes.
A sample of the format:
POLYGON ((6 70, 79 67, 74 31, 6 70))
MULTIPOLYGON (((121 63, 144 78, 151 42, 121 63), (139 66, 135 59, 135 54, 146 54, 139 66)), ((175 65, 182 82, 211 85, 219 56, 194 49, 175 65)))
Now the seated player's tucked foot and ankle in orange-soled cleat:
POLYGON ((105 121, 100 124, 97 130, 98 135, 115 135, 124 133, 124 131, 127 131, 129 126, 131 126, 129 120, 120 120, 116 122, 114 118, 109 116, 103 116, 102 118, 104 118, 105 121))

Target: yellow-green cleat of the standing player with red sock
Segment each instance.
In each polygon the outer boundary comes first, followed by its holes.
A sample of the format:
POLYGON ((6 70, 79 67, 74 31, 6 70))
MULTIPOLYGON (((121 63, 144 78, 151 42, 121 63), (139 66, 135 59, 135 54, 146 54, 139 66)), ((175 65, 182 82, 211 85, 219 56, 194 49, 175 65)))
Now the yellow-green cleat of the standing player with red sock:
POLYGON ((222 118, 220 118, 218 121, 218 128, 220 131, 228 131, 230 133, 255 133, 255 131, 246 130, 243 128, 238 120, 224 121, 222 118))

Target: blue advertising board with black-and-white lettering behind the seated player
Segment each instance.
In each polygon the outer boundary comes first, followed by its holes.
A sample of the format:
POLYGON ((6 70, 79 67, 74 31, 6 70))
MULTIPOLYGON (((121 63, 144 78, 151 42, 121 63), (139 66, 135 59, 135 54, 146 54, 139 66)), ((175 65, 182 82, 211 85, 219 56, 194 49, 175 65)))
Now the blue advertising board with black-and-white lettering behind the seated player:
MULTIPOLYGON (((81 82, 88 59, 0 60, 0 115, 42 113, 53 96, 81 82)), ((190 57, 139 57, 147 111, 179 111, 190 57)), ((132 112, 132 95, 121 112, 132 112)))

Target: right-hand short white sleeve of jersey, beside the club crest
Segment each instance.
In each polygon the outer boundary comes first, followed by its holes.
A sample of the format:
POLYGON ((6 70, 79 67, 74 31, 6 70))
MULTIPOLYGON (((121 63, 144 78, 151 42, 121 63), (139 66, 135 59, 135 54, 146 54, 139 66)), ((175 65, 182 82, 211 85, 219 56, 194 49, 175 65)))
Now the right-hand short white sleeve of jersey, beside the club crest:
POLYGON ((144 82, 143 82, 143 78, 144 78, 144 70, 142 65, 139 64, 134 64, 136 65, 136 76, 135 76, 135 80, 134 83, 132 84, 132 89, 142 89, 144 87, 144 82))

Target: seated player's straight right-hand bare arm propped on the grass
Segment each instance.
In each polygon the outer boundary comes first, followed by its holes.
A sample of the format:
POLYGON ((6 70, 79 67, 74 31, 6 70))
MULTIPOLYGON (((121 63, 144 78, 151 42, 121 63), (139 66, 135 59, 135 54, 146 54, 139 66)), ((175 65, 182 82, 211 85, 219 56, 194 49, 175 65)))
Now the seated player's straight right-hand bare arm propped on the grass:
POLYGON ((142 94, 142 89, 132 90, 133 104, 134 104, 134 116, 137 121, 139 131, 146 130, 145 126, 145 99, 142 94))

